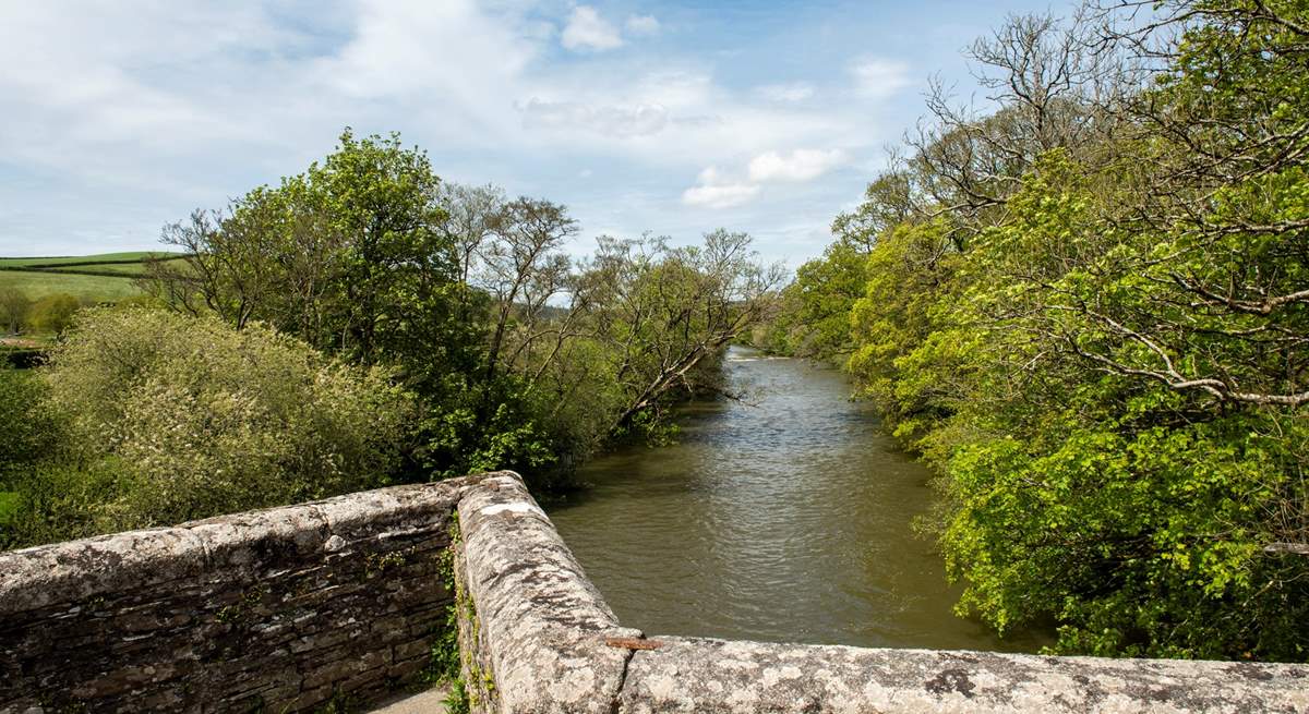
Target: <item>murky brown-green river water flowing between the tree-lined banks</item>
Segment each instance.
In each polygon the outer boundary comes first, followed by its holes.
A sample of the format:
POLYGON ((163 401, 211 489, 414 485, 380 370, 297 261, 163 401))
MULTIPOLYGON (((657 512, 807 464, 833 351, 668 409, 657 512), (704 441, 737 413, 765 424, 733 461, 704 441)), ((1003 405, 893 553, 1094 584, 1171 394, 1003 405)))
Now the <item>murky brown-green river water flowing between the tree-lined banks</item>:
POLYGON ((747 403, 689 405, 677 443, 586 464, 590 484, 547 503, 623 625, 683 634, 1034 651, 956 617, 933 545, 912 522, 929 473, 847 399, 834 369, 732 348, 747 403))

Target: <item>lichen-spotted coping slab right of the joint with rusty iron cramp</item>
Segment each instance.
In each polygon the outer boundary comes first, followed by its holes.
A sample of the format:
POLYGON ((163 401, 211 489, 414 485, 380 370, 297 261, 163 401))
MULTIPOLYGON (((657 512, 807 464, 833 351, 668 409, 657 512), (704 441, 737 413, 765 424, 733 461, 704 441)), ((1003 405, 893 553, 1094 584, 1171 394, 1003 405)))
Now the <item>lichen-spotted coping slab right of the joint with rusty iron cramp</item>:
POLYGON ((1309 670, 664 638, 619 711, 1306 711, 1309 670))

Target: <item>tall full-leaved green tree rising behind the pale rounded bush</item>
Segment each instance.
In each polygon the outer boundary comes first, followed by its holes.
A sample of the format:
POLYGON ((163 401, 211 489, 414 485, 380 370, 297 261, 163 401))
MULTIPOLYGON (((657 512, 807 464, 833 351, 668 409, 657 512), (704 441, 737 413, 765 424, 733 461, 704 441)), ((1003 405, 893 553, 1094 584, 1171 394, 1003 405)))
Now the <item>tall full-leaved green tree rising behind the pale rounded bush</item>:
POLYGON ((459 262, 440 186, 398 135, 347 129, 322 165, 166 226, 162 241, 187 258, 152 264, 144 285, 237 328, 260 319, 363 364, 440 371, 466 361, 470 340, 454 314, 459 262))

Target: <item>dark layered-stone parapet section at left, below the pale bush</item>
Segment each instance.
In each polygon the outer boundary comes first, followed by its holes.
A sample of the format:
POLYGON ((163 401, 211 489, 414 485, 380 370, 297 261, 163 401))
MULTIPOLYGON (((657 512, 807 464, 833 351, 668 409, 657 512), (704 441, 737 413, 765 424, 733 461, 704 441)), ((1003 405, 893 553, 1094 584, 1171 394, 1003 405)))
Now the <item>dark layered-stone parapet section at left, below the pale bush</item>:
POLYGON ((446 628, 473 481, 0 553, 0 714, 302 711, 403 687, 446 628))

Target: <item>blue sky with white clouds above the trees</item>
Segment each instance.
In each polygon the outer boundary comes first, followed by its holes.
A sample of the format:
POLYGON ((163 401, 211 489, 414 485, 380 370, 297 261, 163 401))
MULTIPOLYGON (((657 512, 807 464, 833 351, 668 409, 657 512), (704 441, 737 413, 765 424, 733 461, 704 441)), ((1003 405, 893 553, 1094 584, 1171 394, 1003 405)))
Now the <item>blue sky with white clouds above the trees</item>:
MULTIPOLYGON (((437 173, 567 204, 575 250, 750 231, 792 267, 961 48, 1049 3, 347 0, 0 4, 0 255, 160 228, 402 133, 437 173)), ((1063 5, 1052 7, 1058 13, 1063 5)))

